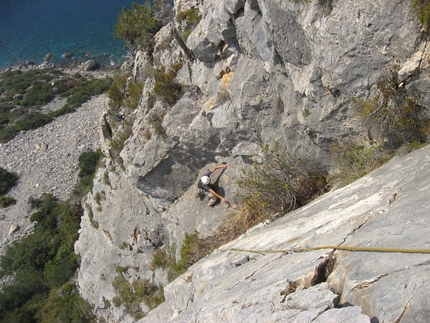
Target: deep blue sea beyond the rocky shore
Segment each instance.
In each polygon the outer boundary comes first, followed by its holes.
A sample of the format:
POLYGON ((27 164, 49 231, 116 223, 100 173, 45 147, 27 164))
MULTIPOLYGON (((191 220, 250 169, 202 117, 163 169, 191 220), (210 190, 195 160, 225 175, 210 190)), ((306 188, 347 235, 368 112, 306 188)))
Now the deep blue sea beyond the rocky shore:
POLYGON ((91 55, 101 65, 120 64, 127 51, 114 39, 113 28, 122 7, 139 0, 0 0, 0 69, 26 61, 66 62, 91 55))

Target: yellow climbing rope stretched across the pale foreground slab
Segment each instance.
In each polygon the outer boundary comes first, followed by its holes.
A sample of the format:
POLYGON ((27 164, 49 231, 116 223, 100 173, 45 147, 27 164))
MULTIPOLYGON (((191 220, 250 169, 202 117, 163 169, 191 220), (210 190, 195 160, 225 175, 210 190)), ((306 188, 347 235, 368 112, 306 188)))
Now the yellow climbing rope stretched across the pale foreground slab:
POLYGON ((367 251, 367 252, 400 252, 400 253, 429 253, 430 249, 400 249, 400 248, 373 248, 373 247, 352 247, 352 246, 319 246, 309 248, 293 248, 289 250, 251 250, 251 249, 220 249, 221 251, 240 251, 240 252, 253 252, 253 253, 294 253, 304 251, 314 251, 321 249, 335 249, 335 250, 346 250, 346 251, 367 251))

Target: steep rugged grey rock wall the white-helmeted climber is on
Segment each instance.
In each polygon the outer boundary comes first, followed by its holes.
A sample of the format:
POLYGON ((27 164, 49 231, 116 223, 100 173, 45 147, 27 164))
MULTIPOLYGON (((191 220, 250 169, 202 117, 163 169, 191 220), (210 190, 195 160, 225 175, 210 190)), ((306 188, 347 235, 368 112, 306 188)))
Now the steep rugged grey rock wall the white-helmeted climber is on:
MULTIPOLYGON (((185 233, 216 232, 225 205, 209 209, 194 197, 206 169, 228 163, 219 176, 233 203, 241 169, 267 142, 330 170, 331 144, 362 137, 351 98, 373 93, 393 64, 418 102, 428 103, 426 39, 408 1, 334 0, 331 11, 319 3, 176 0, 176 15, 195 7, 201 17, 186 41, 189 52, 173 37, 173 28, 186 31, 175 18, 157 34, 153 58, 139 53, 129 63, 144 84, 132 134, 120 163, 110 154, 111 138, 102 136, 106 158, 76 245, 79 286, 100 317, 133 321, 108 305, 115 268, 128 267, 130 282, 165 284, 162 271, 148 270, 153 251, 180 246, 185 233), (181 93, 171 106, 154 96, 153 73, 175 66, 182 66, 175 78, 181 93)), ((125 125, 113 128, 115 136, 125 125)))

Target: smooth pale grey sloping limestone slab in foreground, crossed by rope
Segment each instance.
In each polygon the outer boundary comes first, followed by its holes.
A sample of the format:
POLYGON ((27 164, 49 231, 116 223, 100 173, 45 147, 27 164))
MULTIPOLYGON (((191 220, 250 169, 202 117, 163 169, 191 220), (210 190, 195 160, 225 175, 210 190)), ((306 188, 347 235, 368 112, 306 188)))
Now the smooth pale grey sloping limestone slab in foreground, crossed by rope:
POLYGON ((222 246, 138 322, 427 322, 429 185, 427 146, 222 246))

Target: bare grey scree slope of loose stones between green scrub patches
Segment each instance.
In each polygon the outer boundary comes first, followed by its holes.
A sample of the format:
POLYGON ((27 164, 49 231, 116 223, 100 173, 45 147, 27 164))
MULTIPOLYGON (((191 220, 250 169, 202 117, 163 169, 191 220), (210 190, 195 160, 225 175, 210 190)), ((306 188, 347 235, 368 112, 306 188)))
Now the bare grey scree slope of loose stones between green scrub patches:
POLYGON ((0 254, 6 244, 31 230, 29 196, 52 193, 63 200, 68 198, 78 181, 79 155, 100 146, 99 120, 107 100, 106 95, 94 97, 76 112, 0 144, 0 166, 20 176, 7 194, 17 204, 0 209, 0 254))

